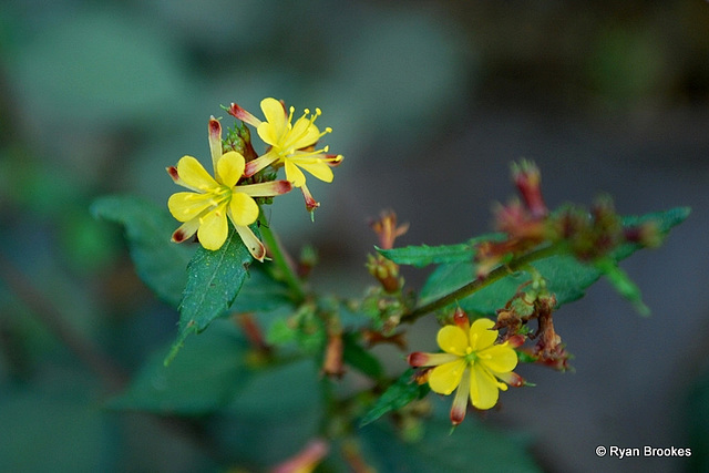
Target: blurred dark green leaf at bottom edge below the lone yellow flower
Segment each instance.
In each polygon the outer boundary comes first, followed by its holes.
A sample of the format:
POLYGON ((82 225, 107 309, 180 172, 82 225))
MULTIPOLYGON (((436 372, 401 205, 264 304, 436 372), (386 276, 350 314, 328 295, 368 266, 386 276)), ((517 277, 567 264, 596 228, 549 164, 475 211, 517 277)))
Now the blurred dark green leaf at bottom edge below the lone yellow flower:
POLYGON ((363 460, 382 472, 540 472, 527 453, 527 442, 485 426, 474 415, 452 431, 452 397, 432 397, 434 418, 421 420, 422 436, 403 441, 389 422, 359 431, 363 460))

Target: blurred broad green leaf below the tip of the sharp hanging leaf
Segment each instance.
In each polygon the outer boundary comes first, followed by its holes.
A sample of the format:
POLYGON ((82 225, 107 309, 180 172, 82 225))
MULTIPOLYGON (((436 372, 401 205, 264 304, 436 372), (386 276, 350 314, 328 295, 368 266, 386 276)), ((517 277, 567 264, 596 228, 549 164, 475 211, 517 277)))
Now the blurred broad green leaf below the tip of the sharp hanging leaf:
POLYGON ((141 368, 126 391, 107 402, 122 410, 197 415, 232 402, 253 371, 245 364, 248 345, 224 320, 195 337, 182 356, 165 366, 166 347, 141 368))

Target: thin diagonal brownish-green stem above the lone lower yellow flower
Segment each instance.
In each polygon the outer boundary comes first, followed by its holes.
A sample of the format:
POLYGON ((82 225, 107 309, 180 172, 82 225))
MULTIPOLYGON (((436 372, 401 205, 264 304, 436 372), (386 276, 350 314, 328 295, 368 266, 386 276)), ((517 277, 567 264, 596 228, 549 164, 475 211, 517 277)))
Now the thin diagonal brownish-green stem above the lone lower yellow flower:
POLYGON ((405 313, 401 317, 402 322, 413 322, 420 317, 425 316, 427 313, 433 312, 434 310, 442 309, 456 300, 463 299, 480 289, 489 286, 500 279, 506 277, 511 273, 516 273, 523 269, 526 265, 532 261, 536 261, 537 259, 548 258, 552 255, 559 253, 559 245, 549 245, 543 248, 536 249, 534 251, 522 255, 517 258, 512 259, 506 265, 502 265, 493 269, 485 276, 483 279, 473 279, 467 282, 465 286, 462 286, 455 289, 452 292, 446 294, 435 300, 432 300, 429 304, 414 308, 411 312, 405 313))

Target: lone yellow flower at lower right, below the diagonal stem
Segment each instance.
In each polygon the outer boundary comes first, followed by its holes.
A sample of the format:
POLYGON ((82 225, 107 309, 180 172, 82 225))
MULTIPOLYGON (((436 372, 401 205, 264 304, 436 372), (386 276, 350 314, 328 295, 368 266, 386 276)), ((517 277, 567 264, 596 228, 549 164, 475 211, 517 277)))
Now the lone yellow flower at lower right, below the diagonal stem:
POLYGON ((505 382, 521 385, 523 380, 512 372, 517 356, 510 342, 495 345, 495 322, 477 319, 471 326, 462 310, 456 310, 454 320, 455 325, 439 330, 436 339, 443 353, 414 352, 409 364, 435 367, 428 376, 432 391, 448 395, 458 389, 451 421, 459 424, 465 418, 469 397, 475 408, 490 409, 497 403, 500 390, 507 390, 505 382))

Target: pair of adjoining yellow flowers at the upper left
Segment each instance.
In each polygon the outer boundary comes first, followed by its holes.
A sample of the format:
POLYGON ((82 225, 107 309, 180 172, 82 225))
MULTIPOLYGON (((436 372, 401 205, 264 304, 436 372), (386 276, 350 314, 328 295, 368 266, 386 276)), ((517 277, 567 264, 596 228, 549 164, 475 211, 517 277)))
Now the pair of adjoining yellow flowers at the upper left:
MULTIPOLYGON (((249 228, 260 214, 255 197, 274 197, 298 187, 302 191, 308 210, 320 205, 308 191, 301 169, 329 183, 333 177, 330 166, 342 161, 341 155, 326 154, 327 146, 315 148, 318 140, 331 132, 331 128, 320 132, 315 125, 320 110, 316 109, 310 117, 307 117, 309 111, 306 110, 295 124, 291 124, 294 109, 286 114, 282 103, 276 99, 264 99, 261 110, 266 121, 256 119, 236 104, 232 104, 228 112, 256 126, 258 135, 269 145, 264 155, 247 161, 245 154, 251 153, 243 154, 223 142, 222 125, 212 117, 209 151, 214 176, 193 156, 183 156, 177 166, 167 167, 173 181, 191 191, 175 193, 167 200, 173 217, 183 223, 173 234, 173 241, 182 243, 196 234, 206 249, 219 249, 226 241, 230 220, 251 256, 263 261, 266 249, 249 228), (284 166, 286 179, 276 181, 273 174, 259 179, 253 178, 267 166, 284 166)), ((246 147, 253 150, 250 142, 246 143, 246 147)))

